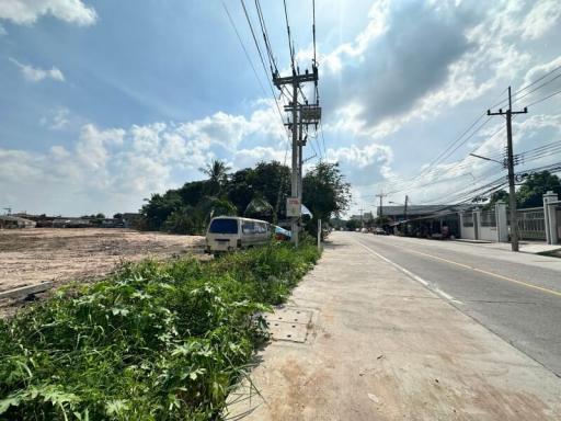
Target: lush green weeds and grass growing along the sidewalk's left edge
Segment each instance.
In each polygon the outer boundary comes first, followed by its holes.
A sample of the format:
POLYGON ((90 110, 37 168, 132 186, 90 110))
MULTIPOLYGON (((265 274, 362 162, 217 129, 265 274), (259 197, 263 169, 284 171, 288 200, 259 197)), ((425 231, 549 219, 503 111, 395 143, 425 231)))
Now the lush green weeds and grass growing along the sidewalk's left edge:
POLYGON ((319 252, 289 244, 123 266, 0 321, 0 419, 216 420, 319 252))

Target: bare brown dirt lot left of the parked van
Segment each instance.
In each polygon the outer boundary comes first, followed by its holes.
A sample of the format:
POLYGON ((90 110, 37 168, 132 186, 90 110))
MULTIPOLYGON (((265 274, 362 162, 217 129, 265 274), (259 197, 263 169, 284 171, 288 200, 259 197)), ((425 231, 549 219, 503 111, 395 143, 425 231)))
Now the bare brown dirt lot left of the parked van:
POLYGON ((0 292, 53 281, 88 281, 122 261, 202 252, 203 237, 129 229, 34 228, 0 230, 0 292))

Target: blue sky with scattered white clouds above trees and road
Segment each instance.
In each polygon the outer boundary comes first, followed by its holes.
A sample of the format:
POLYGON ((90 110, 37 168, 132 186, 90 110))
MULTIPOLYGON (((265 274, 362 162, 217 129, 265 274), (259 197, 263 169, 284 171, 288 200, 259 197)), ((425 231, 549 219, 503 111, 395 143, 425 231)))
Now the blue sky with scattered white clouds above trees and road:
MULTIPOLYGON (((312 2, 286 4, 304 71, 312 2)), ((283 2, 261 5, 289 75, 283 2)), ((561 141, 561 94, 545 99, 561 90, 558 0, 317 0, 316 26, 322 125, 306 169, 340 163, 348 214, 375 210, 379 193, 457 202, 504 177, 469 153, 502 159, 504 117, 484 113, 506 110, 508 86, 513 110, 530 105, 513 121, 515 152, 561 141)), ((136 212, 211 159, 289 163, 270 79, 237 0, 0 0, 0 208, 136 212)), ((559 162, 554 148, 516 171, 559 162)))

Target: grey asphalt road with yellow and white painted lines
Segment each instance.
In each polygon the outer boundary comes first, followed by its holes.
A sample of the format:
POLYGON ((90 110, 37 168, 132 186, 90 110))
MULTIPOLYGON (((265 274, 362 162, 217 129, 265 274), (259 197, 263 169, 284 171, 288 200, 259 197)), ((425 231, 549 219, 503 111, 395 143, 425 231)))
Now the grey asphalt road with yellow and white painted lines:
POLYGON ((453 306, 561 377, 561 259, 484 244, 337 235, 428 283, 453 306))

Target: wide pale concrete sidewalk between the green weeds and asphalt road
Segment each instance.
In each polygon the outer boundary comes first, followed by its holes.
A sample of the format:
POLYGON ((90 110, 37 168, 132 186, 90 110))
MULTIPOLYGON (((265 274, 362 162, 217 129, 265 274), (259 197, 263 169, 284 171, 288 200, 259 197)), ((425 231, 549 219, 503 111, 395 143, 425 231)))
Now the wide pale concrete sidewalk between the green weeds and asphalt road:
POLYGON ((277 335, 251 375, 261 396, 244 382, 227 419, 561 417, 560 378, 352 238, 335 237, 287 307, 278 318, 311 315, 306 341, 277 335))

